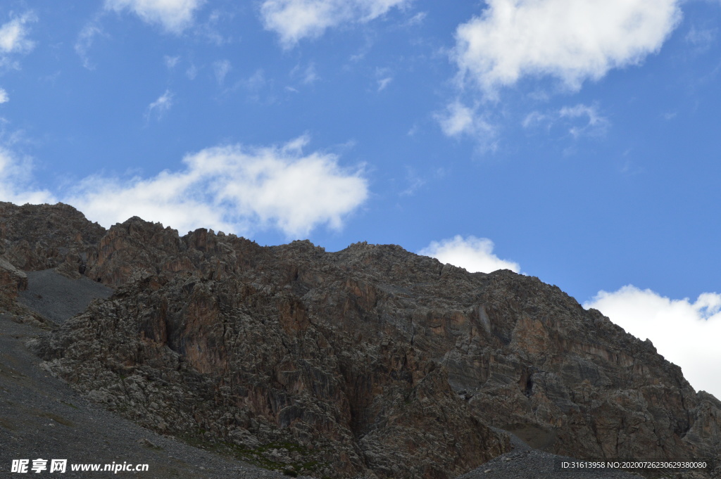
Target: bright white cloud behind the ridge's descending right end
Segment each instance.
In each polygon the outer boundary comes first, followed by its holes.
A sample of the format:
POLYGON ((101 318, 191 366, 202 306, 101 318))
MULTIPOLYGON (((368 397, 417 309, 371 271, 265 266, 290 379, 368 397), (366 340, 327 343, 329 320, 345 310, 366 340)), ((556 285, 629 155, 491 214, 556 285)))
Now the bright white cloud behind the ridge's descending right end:
POLYGON ((672 300, 652 290, 627 285, 598 292, 584 308, 596 308, 640 339, 650 339, 659 354, 681 367, 696 390, 721 398, 721 295, 704 292, 695 301, 672 300))

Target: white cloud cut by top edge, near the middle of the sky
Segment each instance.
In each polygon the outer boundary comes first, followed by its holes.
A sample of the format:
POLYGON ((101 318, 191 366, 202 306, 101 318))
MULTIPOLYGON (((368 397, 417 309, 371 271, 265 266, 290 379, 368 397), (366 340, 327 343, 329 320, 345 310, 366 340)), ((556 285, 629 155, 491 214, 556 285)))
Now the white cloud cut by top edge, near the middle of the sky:
POLYGON ((265 30, 280 36, 290 48, 304 38, 317 38, 331 27, 368 22, 410 0, 265 0, 260 6, 265 30))

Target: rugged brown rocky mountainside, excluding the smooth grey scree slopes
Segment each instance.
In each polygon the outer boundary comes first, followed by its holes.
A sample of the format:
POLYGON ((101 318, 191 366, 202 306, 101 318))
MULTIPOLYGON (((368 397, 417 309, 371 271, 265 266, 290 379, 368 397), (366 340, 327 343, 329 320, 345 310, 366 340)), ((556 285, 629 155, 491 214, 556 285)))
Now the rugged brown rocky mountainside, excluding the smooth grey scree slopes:
POLYGON ((717 457, 721 403, 557 287, 399 246, 328 253, 0 204, 4 257, 115 287, 35 349, 143 425, 318 477, 452 478, 509 448, 717 457), (27 232, 27 233, 26 233, 27 232))

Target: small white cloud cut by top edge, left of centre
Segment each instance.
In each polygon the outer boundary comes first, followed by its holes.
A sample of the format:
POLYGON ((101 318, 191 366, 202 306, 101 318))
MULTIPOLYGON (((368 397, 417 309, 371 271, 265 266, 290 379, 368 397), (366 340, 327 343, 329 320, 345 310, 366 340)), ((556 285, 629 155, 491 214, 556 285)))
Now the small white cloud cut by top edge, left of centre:
POLYGON ((204 0, 105 0, 105 9, 131 10, 143 22, 160 24, 167 32, 180 34, 193 24, 193 13, 204 0))

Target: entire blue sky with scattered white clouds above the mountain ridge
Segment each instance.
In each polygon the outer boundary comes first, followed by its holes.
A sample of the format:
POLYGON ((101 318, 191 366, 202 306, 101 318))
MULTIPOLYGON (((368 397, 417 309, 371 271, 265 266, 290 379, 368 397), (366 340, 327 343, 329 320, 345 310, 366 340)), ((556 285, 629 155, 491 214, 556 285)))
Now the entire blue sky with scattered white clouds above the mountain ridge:
POLYGON ((721 396, 717 0, 0 6, 0 200, 510 267, 721 396))

